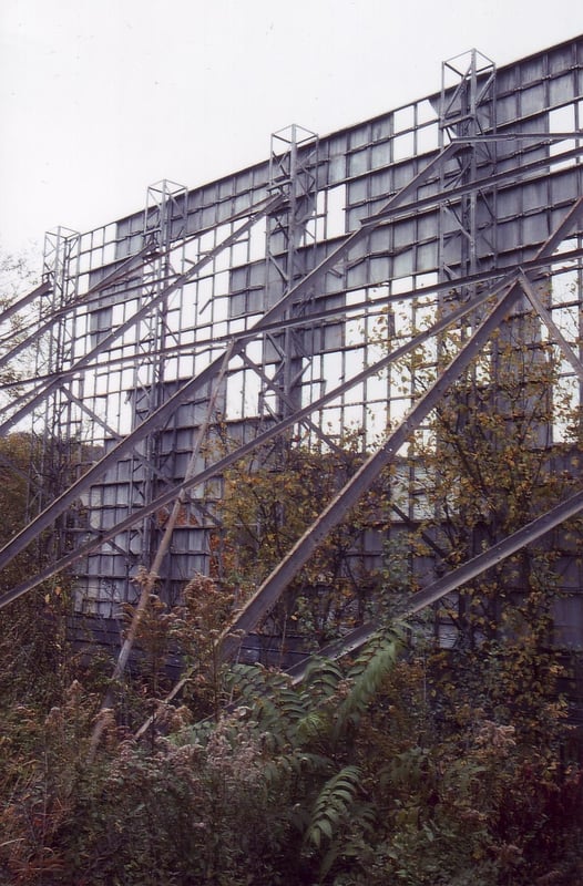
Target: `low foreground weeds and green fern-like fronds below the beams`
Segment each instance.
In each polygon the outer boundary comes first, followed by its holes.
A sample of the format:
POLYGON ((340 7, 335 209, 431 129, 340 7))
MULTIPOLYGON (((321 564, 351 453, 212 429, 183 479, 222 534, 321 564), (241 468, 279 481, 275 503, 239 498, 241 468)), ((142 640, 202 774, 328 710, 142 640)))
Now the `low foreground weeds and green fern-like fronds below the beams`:
POLYGON ((73 683, 11 723, 0 883, 571 886, 583 781, 552 741, 480 709, 436 714, 407 626, 293 686, 233 666, 217 721, 172 707, 144 743, 73 683), (8 790, 7 790, 8 789, 8 790))

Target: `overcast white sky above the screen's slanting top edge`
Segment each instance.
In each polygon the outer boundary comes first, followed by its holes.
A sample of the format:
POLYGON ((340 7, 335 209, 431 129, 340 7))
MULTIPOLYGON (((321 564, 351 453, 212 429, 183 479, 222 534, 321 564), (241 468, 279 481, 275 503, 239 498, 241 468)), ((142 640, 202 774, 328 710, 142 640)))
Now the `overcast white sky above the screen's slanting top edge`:
POLYGON ((140 209, 583 31, 581 0, 0 0, 0 248, 140 209))

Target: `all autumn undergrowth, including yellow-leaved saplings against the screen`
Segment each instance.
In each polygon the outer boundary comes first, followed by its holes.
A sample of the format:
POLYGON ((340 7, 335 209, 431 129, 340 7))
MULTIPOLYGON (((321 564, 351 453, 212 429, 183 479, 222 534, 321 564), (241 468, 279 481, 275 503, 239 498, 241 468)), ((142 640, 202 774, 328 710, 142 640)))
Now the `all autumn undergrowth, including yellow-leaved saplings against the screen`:
MULTIPOLYGON (((458 344, 444 339, 441 357, 458 344)), ((570 404, 546 396, 552 354, 518 344, 509 328, 488 356, 499 362, 495 398, 483 382, 487 358, 452 388, 399 471, 320 547, 264 626, 294 622, 309 647, 376 616, 378 631, 351 657, 314 658, 294 684, 276 668, 224 663, 216 640, 357 470, 356 445, 278 443, 277 471, 262 454, 250 474, 248 464, 227 474, 216 575, 194 576, 180 607, 151 595, 140 667, 120 680, 111 709, 100 709, 110 669, 67 642, 67 583, 0 611, 2 886, 583 882, 583 743, 560 691, 576 653, 552 642, 581 566, 581 521, 429 614, 393 616, 440 570, 576 488, 575 423, 567 442, 540 440, 551 424, 570 424, 570 404), (418 505, 395 528, 388 496, 405 478, 418 505), (386 536, 376 575, 355 556, 371 527, 386 536), (182 691, 168 701, 163 663, 175 647, 182 691), (101 741, 90 753, 95 720, 101 741)), ((429 363, 415 354, 399 371, 415 372, 422 391, 429 363)), ((23 465, 29 442, 8 437, 2 454, 23 465)), ((7 540, 27 492, 4 480, 7 540)), ((28 556, 3 589, 37 567, 28 556)))

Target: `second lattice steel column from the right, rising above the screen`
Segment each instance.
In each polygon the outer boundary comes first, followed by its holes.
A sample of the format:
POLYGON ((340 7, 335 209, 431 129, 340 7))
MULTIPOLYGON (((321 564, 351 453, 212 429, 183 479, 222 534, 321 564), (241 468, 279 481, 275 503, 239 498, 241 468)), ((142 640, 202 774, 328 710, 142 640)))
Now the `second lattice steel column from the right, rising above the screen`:
MULTIPOLYGON (((267 218, 266 308, 288 291, 315 265, 318 136, 292 125, 272 135, 269 188, 286 197, 282 209, 267 218)), ((306 305, 294 306, 298 316, 306 305)), ((306 332, 286 329, 266 336, 259 395, 262 413, 284 418, 300 405, 299 380, 311 342, 306 332)))

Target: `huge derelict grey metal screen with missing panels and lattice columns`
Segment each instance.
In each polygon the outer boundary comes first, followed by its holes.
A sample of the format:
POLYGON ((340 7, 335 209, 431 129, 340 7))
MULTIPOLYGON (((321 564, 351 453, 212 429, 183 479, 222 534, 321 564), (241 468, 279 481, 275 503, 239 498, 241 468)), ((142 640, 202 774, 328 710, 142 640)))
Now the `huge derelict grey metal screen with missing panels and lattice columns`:
MULTIPOLYGON (((30 333, 2 358, 35 353, 1 431, 27 427, 38 445, 30 524, 0 565, 53 525, 60 549, 3 602, 70 566, 79 610, 115 615, 180 495, 161 571, 175 601, 211 568, 217 477, 232 457, 217 451, 218 429, 233 457, 285 430, 331 449, 351 430, 366 453, 398 452, 436 401, 411 420, 415 374, 403 389, 379 330, 407 348, 444 305, 473 318, 471 357, 512 299, 530 299, 576 408, 582 125, 583 38, 498 70, 472 50, 443 63, 432 95, 327 136, 292 125, 254 166, 194 189, 162 181, 133 215, 47 235, 43 285, 17 306, 30 333), (485 313, 487 296, 510 301, 485 313), (78 476, 54 497, 43 478, 55 461, 78 476)), ((570 591, 582 587, 575 571, 570 591)), ((563 621, 580 642, 572 600, 563 621)))

